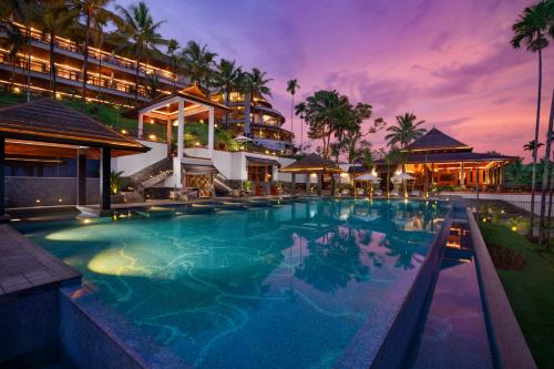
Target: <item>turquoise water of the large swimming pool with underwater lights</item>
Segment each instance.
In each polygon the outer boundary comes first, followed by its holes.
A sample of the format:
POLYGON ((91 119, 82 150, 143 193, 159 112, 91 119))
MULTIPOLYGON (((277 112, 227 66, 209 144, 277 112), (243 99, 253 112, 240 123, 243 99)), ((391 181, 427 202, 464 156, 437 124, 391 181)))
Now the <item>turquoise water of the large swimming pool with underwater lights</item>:
POLYGON ((192 366, 329 368, 376 309, 393 318, 445 214, 314 201, 18 228, 192 366))

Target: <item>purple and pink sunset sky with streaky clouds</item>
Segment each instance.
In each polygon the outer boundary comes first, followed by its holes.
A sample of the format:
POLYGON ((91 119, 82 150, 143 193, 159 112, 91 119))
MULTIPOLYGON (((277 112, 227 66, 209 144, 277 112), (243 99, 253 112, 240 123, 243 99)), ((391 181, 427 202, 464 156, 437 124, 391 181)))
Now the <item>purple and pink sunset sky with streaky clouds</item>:
MULTIPOLYGON (((119 0, 126 7, 134 0, 119 0)), ((337 89, 392 123, 410 111, 474 146, 524 155, 533 139, 536 54, 513 50, 511 25, 529 0, 146 0, 163 34, 207 43, 219 57, 274 79, 274 105, 290 129, 286 81, 297 101, 337 89)), ((554 86, 544 52, 541 141, 554 86)), ((295 133, 300 135, 299 120, 295 133)), ((305 129, 306 132, 306 129, 305 129)), ((383 146, 383 133, 371 137, 383 146)))

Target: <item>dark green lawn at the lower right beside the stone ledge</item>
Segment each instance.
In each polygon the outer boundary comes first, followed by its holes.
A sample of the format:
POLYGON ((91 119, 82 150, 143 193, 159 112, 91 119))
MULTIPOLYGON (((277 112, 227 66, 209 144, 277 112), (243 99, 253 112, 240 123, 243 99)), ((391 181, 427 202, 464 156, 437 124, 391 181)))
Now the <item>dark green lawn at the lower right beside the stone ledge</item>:
POLYGON ((486 243, 509 247, 525 257, 520 270, 499 276, 540 368, 554 368, 554 252, 537 252, 536 245, 510 228, 481 223, 486 243))

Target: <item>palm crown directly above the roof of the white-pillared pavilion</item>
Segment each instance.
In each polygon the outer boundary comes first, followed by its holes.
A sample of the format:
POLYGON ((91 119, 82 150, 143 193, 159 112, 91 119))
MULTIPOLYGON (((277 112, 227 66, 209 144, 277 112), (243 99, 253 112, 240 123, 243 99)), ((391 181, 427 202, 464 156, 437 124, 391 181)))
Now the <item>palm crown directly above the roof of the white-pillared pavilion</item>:
POLYGON ((181 52, 183 71, 191 82, 199 86, 207 86, 213 74, 215 52, 209 52, 207 45, 201 45, 196 41, 188 41, 186 48, 181 52))

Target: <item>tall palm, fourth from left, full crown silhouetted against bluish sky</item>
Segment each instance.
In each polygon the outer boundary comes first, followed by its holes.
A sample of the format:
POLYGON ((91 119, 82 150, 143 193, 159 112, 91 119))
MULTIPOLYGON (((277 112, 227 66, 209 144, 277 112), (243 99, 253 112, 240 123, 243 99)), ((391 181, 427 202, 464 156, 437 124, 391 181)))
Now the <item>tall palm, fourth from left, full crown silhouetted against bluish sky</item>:
POLYGON ((141 71, 141 62, 153 52, 160 52, 158 45, 167 44, 167 41, 158 33, 164 21, 154 22, 148 7, 144 1, 140 1, 136 6, 131 6, 129 9, 116 7, 123 19, 120 28, 120 37, 123 37, 125 42, 122 42, 120 51, 135 59, 135 104, 138 103, 138 73, 141 71))

